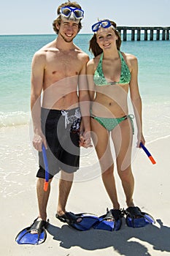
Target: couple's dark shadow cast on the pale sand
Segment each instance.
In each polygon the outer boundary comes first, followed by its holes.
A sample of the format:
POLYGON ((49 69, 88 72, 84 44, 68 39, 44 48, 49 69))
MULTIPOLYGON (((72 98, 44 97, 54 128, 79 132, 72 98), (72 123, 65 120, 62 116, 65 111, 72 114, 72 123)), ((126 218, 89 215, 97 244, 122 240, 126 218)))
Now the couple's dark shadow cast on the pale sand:
POLYGON ((154 250, 170 252, 170 227, 163 225, 161 219, 157 219, 156 222, 159 227, 147 225, 133 228, 125 225, 123 218, 121 229, 113 232, 93 228, 88 231, 78 231, 68 225, 63 225, 61 228, 49 225, 47 232, 54 240, 61 241, 60 246, 66 249, 80 246, 82 249, 93 251, 112 246, 120 255, 150 255, 147 247, 141 243, 144 241, 152 245, 154 250))

